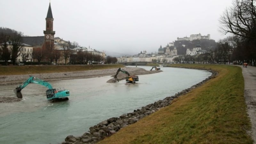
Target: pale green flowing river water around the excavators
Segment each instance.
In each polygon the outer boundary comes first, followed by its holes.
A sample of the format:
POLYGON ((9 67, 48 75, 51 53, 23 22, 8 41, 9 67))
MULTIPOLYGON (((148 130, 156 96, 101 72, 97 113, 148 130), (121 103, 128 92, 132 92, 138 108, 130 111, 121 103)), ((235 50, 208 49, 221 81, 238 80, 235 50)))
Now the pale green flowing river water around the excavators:
MULTIPOLYGON (((139 75, 139 82, 132 85, 125 85, 125 80, 106 83, 110 76, 53 81, 53 87, 70 90, 69 100, 57 103, 46 100, 45 87, 29 84, 21 91, 22 101, 0 103, 0 143, 61 143, 68 135, 81 136, 103 120, 173 96, 211 76, 205 70, 168 67, 161 70, 139 75)), ((0 86, 0 97, 15 97, 15 87, 0 86)))

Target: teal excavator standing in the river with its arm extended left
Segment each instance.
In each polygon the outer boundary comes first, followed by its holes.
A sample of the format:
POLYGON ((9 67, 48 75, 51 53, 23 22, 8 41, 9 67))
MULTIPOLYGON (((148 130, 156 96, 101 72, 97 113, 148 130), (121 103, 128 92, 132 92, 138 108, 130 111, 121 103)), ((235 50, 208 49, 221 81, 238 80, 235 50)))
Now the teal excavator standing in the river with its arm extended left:
POLYGON ((18 98, 22 98, 21 90, 24 89, 29 83, 36 83, 45 86, 48 89, 46 90, 46 98, 52 102, 68 100, 68 96, 70 95, 69 90, 65 90, 64 87, 53 89, 50 83, 30 76, 25 82, 14 89, 14 93, 18 98))

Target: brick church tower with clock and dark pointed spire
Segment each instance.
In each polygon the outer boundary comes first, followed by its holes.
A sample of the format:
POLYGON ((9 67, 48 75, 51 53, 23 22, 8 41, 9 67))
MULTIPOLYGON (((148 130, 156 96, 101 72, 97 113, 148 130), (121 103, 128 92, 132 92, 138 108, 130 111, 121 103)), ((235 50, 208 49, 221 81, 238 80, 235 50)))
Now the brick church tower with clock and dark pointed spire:
POLYGON ((49 4, 46 20, 46 29, 44 31, 44 48, 45 49, 52 49, 54 46, 54 34, 53 31, 53 17, 52 17, 52 8, 51 3, 49 4))

